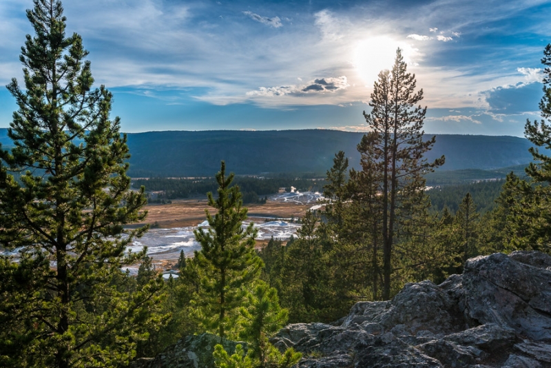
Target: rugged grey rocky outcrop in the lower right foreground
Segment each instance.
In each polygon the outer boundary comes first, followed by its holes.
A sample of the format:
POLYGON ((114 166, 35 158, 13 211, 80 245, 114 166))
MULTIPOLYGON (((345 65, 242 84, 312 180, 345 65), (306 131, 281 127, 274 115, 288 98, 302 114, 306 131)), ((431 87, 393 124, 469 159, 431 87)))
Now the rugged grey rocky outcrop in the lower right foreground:
POLYGON ((288 325, 272 343, 302 351, 300 368, 551 367, 551 257, 472 258, 441 285, 357 303, 341 325, 288 325))

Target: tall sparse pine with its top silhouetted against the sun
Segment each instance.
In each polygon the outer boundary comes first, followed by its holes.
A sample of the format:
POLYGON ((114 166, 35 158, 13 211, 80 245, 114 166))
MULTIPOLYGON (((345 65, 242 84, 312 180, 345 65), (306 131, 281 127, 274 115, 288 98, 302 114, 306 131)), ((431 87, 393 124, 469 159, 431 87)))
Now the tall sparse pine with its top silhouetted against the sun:
POLYGON ((392 70, 380 72, 375 82, 369 103, 371 113, 364 112, 371 133, 364 136, 358 146, 362 157, 372 160, 372 168, 382 173, 379 192, 383 207, 382 298, 385 300, 391 297, 392 256, 400 221, 422 203, 423 174, 444 163, 444 156, 433 163, 424 159, 435 137, 423 141, 426 108, 417 106, 423 99, 423 90, 415 92, 415 74, 409 74, 406 68, 398 49, 392 70))

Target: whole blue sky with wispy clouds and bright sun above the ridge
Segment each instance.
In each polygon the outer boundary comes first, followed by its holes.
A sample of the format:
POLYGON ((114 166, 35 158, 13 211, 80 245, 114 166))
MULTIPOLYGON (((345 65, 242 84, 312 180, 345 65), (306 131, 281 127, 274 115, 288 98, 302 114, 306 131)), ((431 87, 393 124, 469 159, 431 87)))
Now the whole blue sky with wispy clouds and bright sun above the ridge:
MULTIPOLYGON (((123 132, 335 129, 362 112, 397 48, 431 134, 523 136, 540 119, 551 1, 65 0, 67 34, 114 94, 123 132)), ((0 0, 0 84, 22 81, 30 0, 0 0)), ((0 127, 17 110, 0 87, 0 127)))

